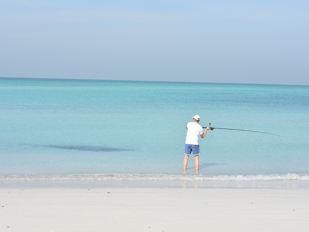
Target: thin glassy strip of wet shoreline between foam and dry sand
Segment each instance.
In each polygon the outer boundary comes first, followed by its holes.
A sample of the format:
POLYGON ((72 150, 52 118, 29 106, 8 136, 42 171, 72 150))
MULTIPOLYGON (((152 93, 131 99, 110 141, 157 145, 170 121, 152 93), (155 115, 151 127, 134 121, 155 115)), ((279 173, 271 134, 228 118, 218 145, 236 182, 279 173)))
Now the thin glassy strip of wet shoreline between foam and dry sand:
POLYGON ((309 188, 308 180, 0 180, 5 188, 309 188))

